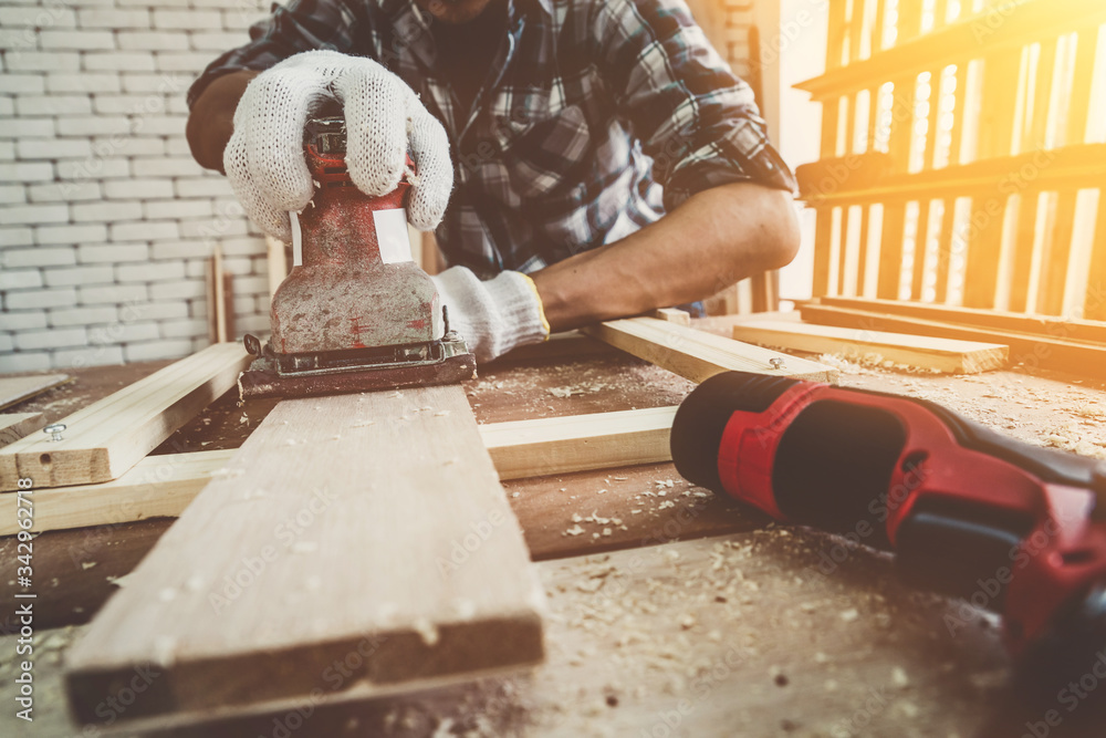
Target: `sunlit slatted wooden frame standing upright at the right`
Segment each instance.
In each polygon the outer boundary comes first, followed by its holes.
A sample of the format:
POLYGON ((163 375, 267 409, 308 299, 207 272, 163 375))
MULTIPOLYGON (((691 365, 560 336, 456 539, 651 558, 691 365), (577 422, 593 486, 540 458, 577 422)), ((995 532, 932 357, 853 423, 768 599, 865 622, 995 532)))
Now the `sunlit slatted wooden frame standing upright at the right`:
POLYGON ((961 2, 949 19, 946 2, 899 2, 894 40, 857 54, 873 3, 884 17, 889 0, 830 3, 826 71, 796 85, 823 106, 821 159, 797 171, 816 214, 814 295, 1106 316, 1106 146, 1085 135, 1106 6, 961 2), (1082 197, 1095 190, 1097 212, 1082 197))

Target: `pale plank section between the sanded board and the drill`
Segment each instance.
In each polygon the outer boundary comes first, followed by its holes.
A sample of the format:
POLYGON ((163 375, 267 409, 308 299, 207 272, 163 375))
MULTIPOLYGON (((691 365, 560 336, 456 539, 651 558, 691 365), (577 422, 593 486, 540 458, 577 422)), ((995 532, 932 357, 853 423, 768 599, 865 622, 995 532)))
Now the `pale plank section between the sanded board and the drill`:
POLYGON ((500 479, 656 464, 668 446, 675 407, 494 423, 480 435, 500 479))

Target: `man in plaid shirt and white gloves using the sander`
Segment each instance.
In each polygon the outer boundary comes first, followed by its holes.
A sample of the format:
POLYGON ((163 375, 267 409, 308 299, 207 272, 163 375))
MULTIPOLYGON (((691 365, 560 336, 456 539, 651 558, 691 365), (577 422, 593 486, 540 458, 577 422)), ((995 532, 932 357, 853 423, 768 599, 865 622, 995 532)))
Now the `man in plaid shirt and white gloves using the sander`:
POLYGON ((196 159, 288 240, 312 195, 304 122, 337 98, 361 189, 393 189, 413 153, 408 217, 437 227, 478 360, 701 300, 799 247, 791 171, 682 0, 291 0, 251 38, 189 92, 196 159))

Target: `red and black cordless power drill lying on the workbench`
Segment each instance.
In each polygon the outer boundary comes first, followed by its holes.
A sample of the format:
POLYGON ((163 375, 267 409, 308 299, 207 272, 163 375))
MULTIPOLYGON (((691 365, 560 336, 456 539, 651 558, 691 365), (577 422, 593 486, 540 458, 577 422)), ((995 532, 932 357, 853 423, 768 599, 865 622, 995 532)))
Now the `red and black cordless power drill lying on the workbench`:
POLYGON ((688 395, 671 450, 697 485, 857 533, 911 583, 1000 613, 1034 668, 1085 671, 1106 648, 1106 462, 924 399, 745 372, 688 395))

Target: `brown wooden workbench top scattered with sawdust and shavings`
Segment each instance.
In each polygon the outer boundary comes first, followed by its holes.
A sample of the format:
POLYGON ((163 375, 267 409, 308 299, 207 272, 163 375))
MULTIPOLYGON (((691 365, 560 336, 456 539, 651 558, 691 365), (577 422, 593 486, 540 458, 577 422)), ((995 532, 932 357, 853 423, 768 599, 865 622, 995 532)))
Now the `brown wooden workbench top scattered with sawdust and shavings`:
MULTIPOLYGON (((712 328, 709 320, 702 326, 712 328)), ((1043 372, 950 376, 838 364, 843 385, 927 397, 1019 438, 1106 455, 1102 384, 1043 372)), ((53 420, 164 365, 73 370, 72 384, 10 410, 53 420)), ((692 386, 596 350, 481 367, 466 391, 478 420, 494 423, 676 405, 692 386)), ((236 448, 274 404, 239 406, 228 393, 155 453, 236 448)), ((504 487, 549 595, 544 665, 186 735, 1001 737, 1033 735, 1026 723, 1048 709, 1062 720, 1040 723, 1046 735, 1106 735, 1092 700, 1068 711, 1010 687, 994 616, 899 583, 887 554, 781 527, 692 487, 670 464, 504 487)), ((81 735, 64 707, 65 649, 170 524, 152 519, 35 539, 43 583, 35 720, 14 717, 17 636, 2 636, 0 735, 81 735)), ((14 602, 14 548, 0 540, 6 603, 14 602)), ((6 606, 8 628, 13 610, 6 606)))

